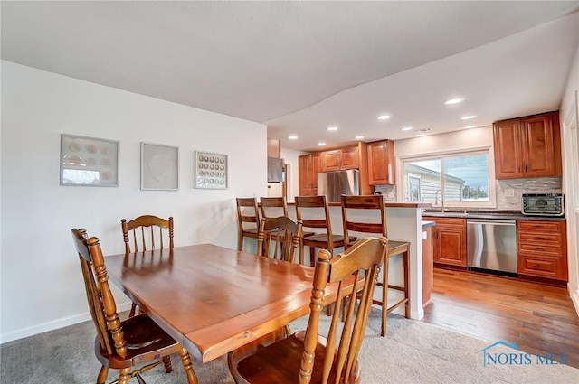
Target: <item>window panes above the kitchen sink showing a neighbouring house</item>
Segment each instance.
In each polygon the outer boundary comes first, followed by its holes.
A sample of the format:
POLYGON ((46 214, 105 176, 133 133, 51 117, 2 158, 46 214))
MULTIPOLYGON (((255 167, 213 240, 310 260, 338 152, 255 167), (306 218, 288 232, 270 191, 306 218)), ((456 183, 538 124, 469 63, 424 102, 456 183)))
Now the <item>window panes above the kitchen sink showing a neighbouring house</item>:
POLYGON ((446 206, 490 205, 489 150, 403 159, 404 201, 446 206))

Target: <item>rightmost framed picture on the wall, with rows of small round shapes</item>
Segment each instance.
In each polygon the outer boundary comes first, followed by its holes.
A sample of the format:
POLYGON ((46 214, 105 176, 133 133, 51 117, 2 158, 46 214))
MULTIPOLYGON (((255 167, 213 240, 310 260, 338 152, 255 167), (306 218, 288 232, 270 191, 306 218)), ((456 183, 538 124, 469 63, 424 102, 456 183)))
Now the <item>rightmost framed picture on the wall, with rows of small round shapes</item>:
POLYGON ((195 188, 227 189, 227 155, 195 151, 195 188))

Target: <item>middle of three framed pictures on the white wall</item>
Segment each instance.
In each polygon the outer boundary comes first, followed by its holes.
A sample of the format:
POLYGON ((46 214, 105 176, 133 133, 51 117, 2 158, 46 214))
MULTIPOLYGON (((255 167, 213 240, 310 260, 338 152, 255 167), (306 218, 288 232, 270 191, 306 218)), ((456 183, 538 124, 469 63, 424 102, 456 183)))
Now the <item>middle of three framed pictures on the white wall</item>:
POLYGON ((179 148, 141 143, 141 190, 179 189, 179 148))

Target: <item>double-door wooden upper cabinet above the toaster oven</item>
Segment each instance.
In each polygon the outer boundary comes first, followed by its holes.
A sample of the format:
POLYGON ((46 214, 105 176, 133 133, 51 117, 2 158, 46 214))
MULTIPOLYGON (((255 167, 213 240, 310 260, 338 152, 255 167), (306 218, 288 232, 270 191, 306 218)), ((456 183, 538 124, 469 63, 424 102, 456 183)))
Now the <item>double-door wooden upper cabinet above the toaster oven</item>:
POLYGON ((493 141, 497 179, 561 176, 558 111, 498 121, 493 141))

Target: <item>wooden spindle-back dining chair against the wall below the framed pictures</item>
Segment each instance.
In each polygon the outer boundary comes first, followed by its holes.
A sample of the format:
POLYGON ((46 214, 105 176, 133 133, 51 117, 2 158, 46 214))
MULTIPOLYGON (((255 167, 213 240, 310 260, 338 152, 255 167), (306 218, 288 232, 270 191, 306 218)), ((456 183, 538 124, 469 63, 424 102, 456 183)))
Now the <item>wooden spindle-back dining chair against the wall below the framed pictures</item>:
MULTIPOLYGON (((164 249, 167 243, 168 248, 173 249, 173 225, 172 217, 166 220, 153 215, 139 216, 130 221, 126 219, 120 220, 120 228, 123 231, 123 241, 125 242, 125 253, 131 253, 131 242, 133 244, 133 252, 164 249)), ((128 316, 133 316, 137 309, 136 304, 131 304, 128 316)))

